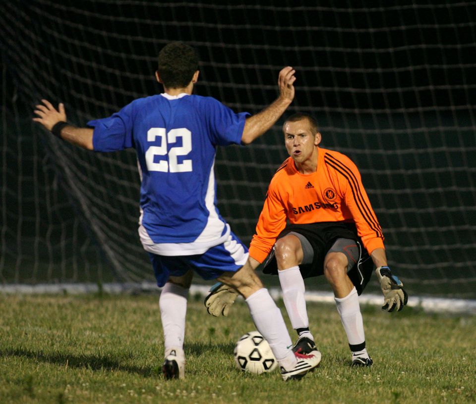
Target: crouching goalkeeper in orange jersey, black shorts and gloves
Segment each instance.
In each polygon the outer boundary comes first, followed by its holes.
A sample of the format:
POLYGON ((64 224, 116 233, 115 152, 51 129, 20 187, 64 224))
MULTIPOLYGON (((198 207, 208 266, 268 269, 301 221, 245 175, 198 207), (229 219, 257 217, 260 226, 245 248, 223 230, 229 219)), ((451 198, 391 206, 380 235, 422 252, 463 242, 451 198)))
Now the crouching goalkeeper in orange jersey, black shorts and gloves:
MULTIPOLYGON (((283 126, 290 155, 268 188, 249 248, 256 268, 277 273, 283 299, 298 334, 295 352, 315 350, 304 300, 304 278, 324 275, 334 291, 353 366, 371 366, 358 295, 376 268, 387 311, 401 310, 408 296, 387 265, 382 229, 356 165, 346 155, 319 147, 315 119, 290 116, 283 126), (288 224, 287 224, 288 223, 288 224)), ((216 285, 205 305, 214 315, 228 313, 236 294, 216 285)))

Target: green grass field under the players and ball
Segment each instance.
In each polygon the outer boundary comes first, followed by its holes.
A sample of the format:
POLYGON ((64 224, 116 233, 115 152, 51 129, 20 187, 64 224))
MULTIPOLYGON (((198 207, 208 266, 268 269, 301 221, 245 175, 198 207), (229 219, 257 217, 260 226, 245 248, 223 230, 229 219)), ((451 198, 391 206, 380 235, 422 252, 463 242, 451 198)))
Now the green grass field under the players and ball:
POLYGON ((191 297, 186 379, 165 381, 157 295, 0 295, 0 403, 476 402, 475 316, 362 307, 374 366, 354 369, 335 306, 308 311, 322 362, 284 383, 235 367, 235 342, 255 329, 242 300, 215 318, 191 297))

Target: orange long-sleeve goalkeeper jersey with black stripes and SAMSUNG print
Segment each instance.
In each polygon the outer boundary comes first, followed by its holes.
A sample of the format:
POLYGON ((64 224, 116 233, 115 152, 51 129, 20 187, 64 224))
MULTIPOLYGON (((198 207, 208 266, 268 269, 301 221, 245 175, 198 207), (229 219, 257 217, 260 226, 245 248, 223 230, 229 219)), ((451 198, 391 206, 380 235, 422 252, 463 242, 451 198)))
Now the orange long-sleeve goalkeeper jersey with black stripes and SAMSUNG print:
POLYGON ((289 157, 268 188, 250 255, 263 262, 276 238, 293 224, 355 222, 357 234, 370 254, 384 248, 383 234, 360 179, 357 166, 346 155, 318 148, 317 169, 300 174, 289 157))

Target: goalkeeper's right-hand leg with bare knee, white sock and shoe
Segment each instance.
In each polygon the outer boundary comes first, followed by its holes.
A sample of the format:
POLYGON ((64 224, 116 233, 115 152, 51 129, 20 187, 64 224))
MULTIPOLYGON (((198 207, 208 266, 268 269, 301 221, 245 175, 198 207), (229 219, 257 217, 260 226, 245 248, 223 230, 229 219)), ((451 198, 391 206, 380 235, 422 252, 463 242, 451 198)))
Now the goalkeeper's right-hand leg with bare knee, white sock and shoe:
POLYGON ((338 239, 324 258, 324 275, 334 291, 334 300, 353 353, 353 366, 370 366, 357 290, 347 275, 357 263, 359 249, 354 240, 338 239))

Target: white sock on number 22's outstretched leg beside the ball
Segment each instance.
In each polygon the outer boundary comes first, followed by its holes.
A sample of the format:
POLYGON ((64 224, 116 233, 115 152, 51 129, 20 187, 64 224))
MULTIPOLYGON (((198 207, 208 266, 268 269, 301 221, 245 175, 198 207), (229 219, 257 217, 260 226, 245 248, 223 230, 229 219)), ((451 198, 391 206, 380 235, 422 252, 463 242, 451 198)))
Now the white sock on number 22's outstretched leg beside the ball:
POLYGON ((268 341, 280 366, 290 370, 296 366, 297 359, 291 347, 291 337, 280 309, 274 303, 267 289, 260 289, 249 296, 248 304, 251 317, 258 331, 268 341))

